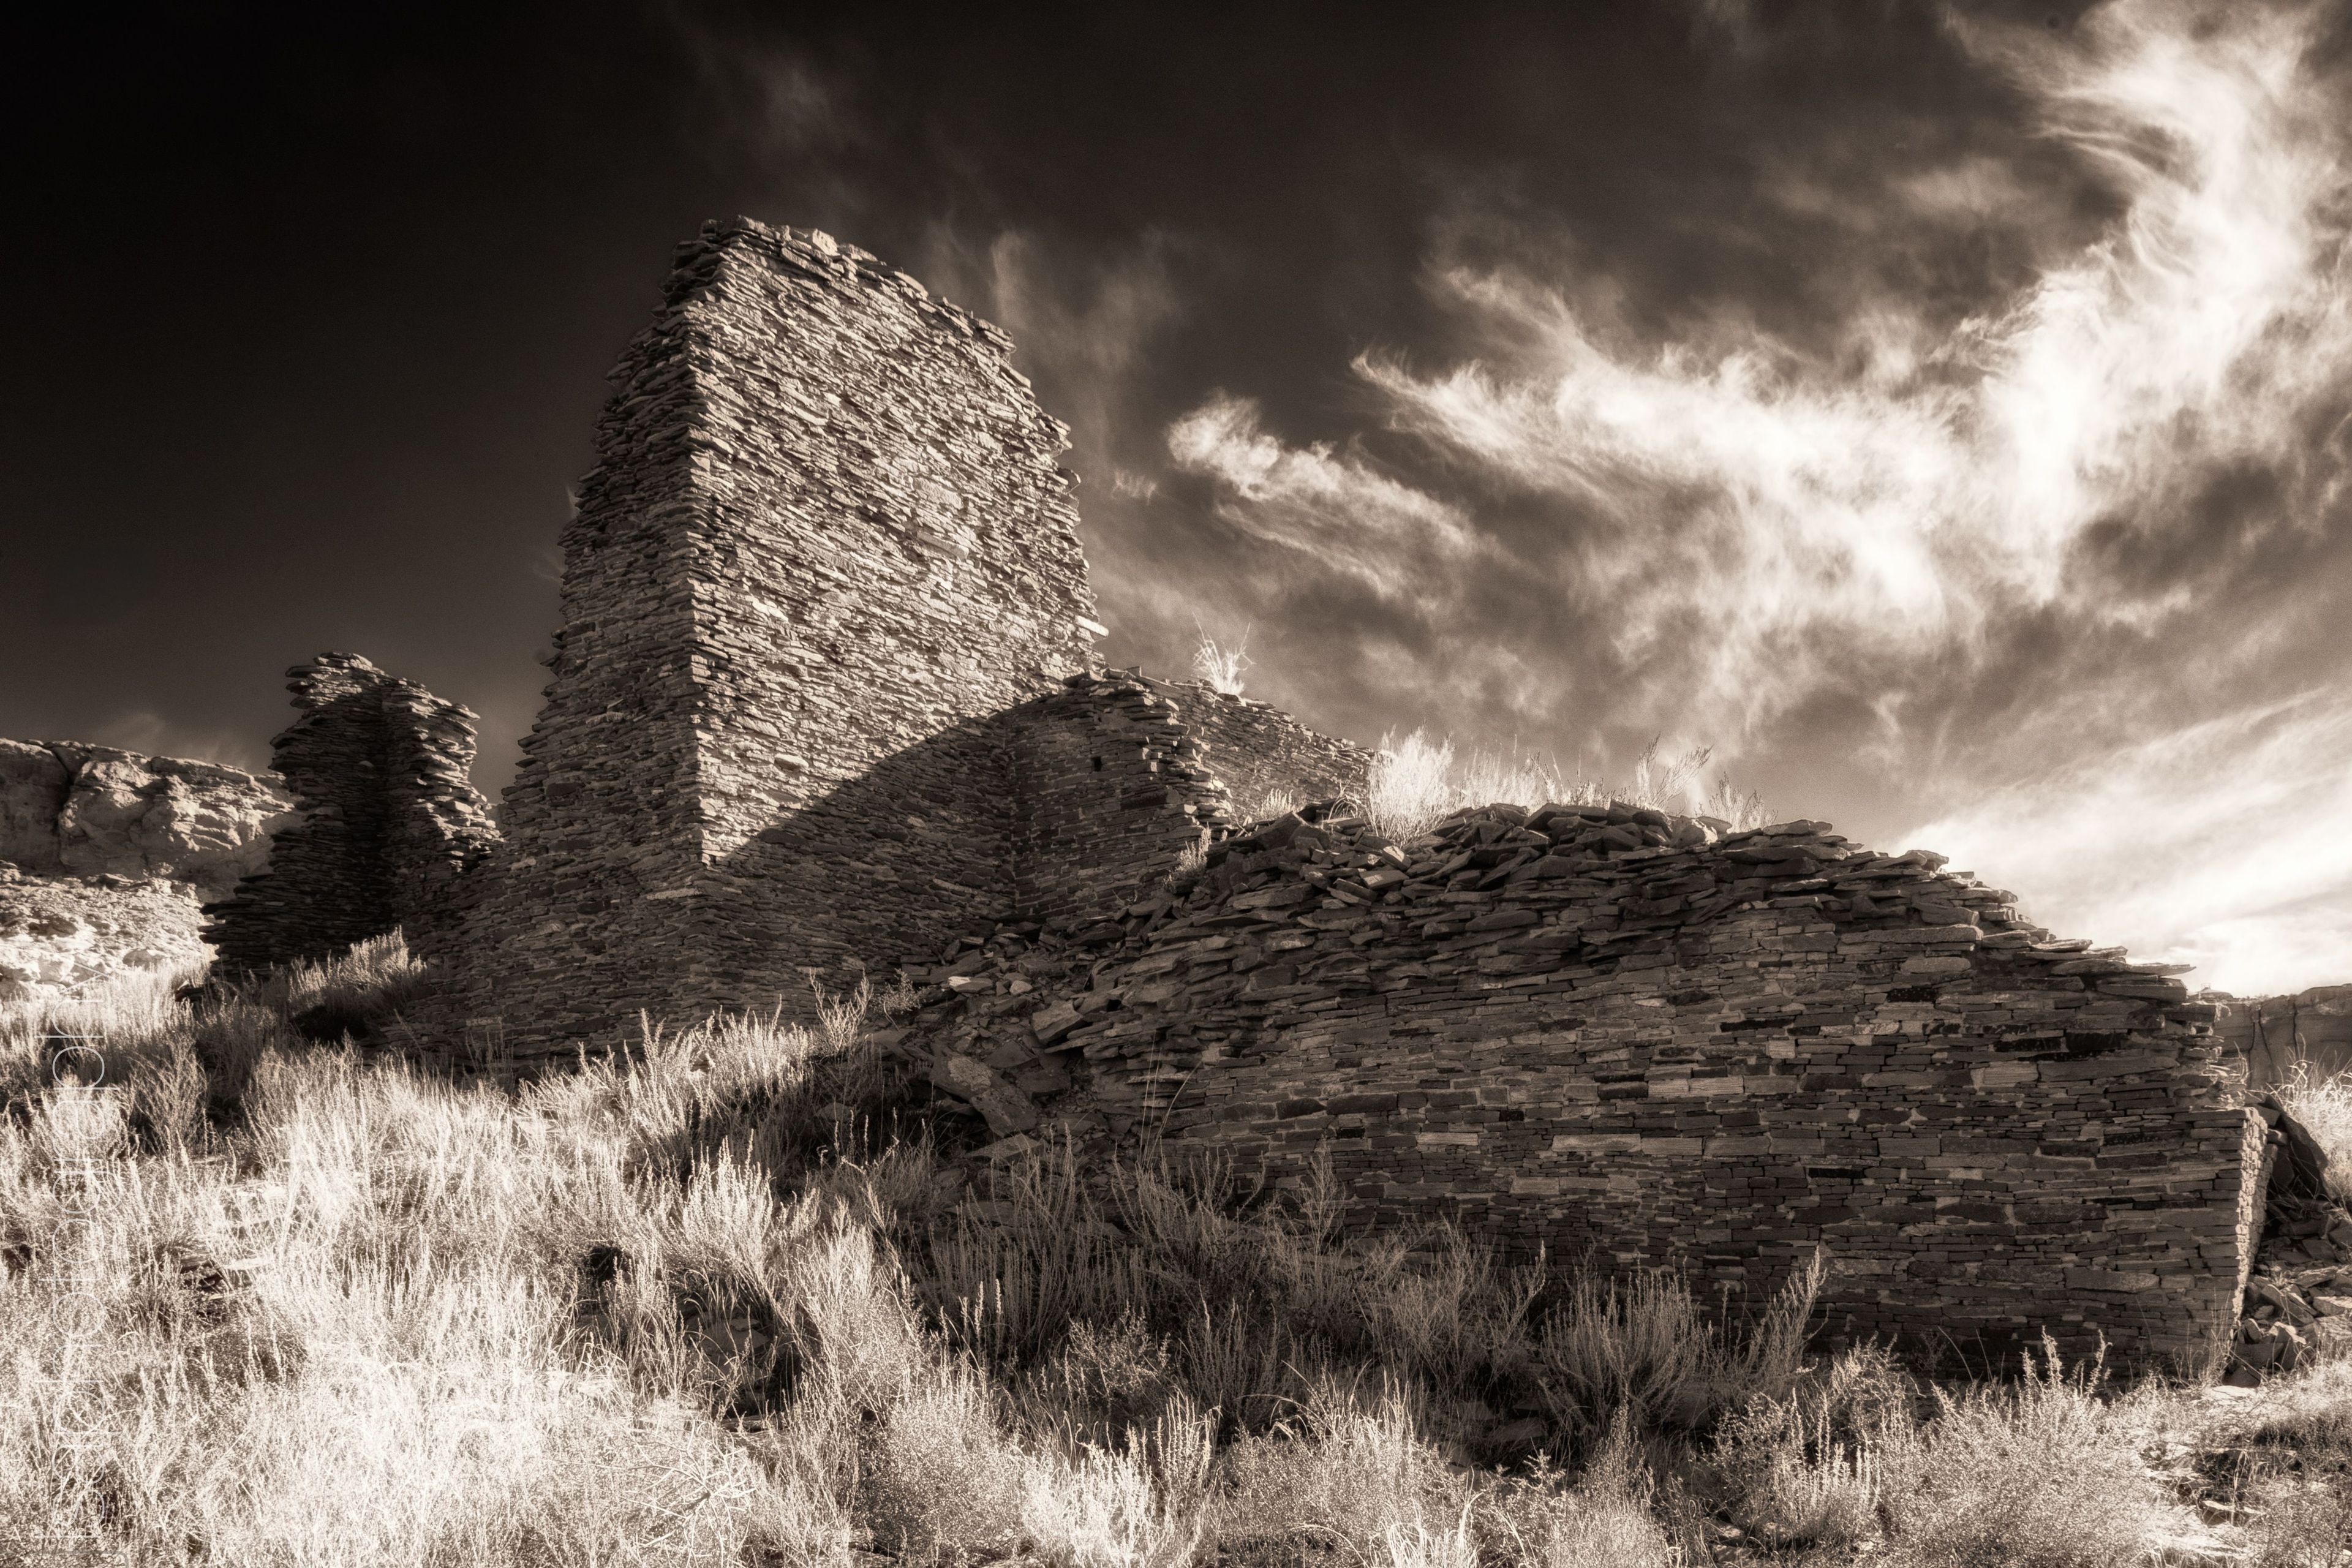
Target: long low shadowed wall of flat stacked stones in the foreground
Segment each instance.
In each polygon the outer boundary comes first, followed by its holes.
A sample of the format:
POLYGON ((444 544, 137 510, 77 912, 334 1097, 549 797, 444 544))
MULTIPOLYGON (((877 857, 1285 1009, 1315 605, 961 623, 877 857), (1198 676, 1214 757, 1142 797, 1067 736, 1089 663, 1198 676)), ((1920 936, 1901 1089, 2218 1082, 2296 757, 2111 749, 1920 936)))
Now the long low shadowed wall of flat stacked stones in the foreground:
POLYGON ((1277 1180, 1329 1152, 1359 1225, 1748 1300, 1823 1244, 1842 1335, 2157 1361, 2234 1321, 2263 1128, 2211 1009, 1938 856, 1618 806, 1411 846, 1291 820, 1214 858, 1080 931, 1103 957, 1033 952, 1018 997, 967 973, 917 1034, 1075 1067, 1049 1110, 1080 1135, 1277 1180))

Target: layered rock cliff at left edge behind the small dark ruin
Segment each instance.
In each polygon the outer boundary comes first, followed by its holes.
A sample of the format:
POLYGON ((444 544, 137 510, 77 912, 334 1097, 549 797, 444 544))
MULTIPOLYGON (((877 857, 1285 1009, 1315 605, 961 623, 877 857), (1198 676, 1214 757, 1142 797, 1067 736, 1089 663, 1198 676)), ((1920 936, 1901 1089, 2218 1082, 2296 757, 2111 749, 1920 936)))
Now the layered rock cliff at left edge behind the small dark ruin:
POLYGON ((0 860, 42 877, 162 877, 221 898, 268 860, 289 804, 275 778, 216 762, 0 741, 0 860))

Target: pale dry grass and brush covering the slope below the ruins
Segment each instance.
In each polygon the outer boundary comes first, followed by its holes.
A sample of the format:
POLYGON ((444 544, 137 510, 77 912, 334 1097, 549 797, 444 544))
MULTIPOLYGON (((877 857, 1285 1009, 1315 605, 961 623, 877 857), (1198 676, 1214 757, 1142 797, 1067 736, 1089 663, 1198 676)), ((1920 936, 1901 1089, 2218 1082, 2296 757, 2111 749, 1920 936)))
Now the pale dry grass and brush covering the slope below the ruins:
MULTIPOLYGON (((1806 1363, 1816 1274, 1743 1328, 1672 1274, 1350 1237, 1329 1171, 1268 1201, 1216 1164, 1049 1157, 983 1192, 873 1131, 898 1088, 863 994, 522 1093, 289 1023, 341 997, 381 1032, 412 983, 379 947, 193 1009, 0 1018, 0 1535, 256 1566, 1639 1568, 1703 1561, 1722 1500, 1924 1568, 2136 1561, 2161 1514, 2096 1368, 1922 1408, 1884 1356, 1806 1363), (52 1081, 54 1032, 101 1037, 96 1088, 52 1081), (1496 1446, 1529 1410, 1541 1436, 1496 1446)), ((2326 1378, 2265 1392, 2277 1432, 2244 1441, 2326 1453, 2352 1406, 2326 1378)), ((2340 1495, 2296 1486, 2265 1561, 2321 1561, 2296 1542, 2340 1495)))

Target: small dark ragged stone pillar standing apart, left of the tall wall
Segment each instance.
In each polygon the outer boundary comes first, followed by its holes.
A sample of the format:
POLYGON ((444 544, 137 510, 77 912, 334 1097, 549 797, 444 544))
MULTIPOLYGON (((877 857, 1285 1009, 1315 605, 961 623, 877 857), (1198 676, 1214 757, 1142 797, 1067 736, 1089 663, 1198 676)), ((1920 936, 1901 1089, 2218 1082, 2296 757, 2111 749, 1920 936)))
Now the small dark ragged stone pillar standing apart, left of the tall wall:
POLYGON ((268 865, 212 905, 223 971, 322 957, 393 926, 433 940, 447 889, 496 842, 468 783, 473 715, 358 654, 287 670, 296 719, 270 741, 294 795, 268 865))

